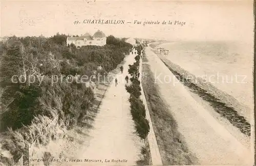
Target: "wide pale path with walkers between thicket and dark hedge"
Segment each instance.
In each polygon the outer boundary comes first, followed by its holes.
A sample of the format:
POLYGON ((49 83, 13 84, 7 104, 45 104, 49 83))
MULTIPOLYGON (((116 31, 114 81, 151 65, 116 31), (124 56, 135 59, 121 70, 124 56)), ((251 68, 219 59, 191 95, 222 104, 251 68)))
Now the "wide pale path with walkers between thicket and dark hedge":
MULTIPOLYGON (((130 112, 130 94, 125 90, 125 76, 128 75, 130 64, 135 61, 135 54, 126 57, 123 74, 117 74, 118 85, 115 87, 115 78, 105 93, 99 113, 95 118, 94 128, 89 133, 92 139, 81 151, 81 162, 68 162, 71 165, 136 165, 139 160, 143 141, 134 133, 134 121, 130 112), (84 162, 84 159, 101 160, 84 162), (127 162, 112 162, 118 160, 127 162), (110 162, 105 162, 105 161, 110 162)), ((74 158, 74 159, 75 159, 74 158)))

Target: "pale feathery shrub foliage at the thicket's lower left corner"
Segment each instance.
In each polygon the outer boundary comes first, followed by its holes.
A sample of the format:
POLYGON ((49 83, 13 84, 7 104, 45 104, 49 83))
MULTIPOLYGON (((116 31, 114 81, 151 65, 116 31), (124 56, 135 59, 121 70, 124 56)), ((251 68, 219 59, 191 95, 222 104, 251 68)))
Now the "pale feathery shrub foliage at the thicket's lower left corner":
POLYGON ((49 117, 37 116, 29 126, 23 126, 15 131, 9 128, 7 132, 1 133, 3 140, 0 144, 3 145, 3 149, 11 151, 14 159, 23 153, 23 159, 27 160, 28 145, 32 142, 35 142, 35 145, 46 145, 50 140, 57 139, 60 136, 55 125, 56 122, 49 117))

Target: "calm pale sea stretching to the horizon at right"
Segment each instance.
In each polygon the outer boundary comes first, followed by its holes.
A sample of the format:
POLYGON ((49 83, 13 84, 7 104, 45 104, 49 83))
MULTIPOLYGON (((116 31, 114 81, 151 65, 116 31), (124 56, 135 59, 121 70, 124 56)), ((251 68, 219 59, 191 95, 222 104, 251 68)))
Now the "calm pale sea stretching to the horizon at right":
POLYGON ((178 41, 159 45, 165 56, 253 110, 253 44, 237 41, 178 41))

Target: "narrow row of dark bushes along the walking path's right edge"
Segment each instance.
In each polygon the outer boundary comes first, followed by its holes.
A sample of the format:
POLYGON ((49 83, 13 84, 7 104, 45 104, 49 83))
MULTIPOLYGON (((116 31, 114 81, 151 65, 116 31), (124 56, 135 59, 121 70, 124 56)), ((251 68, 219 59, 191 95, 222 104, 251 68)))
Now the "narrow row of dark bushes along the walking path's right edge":
MULTIPOLYGON (((129 74, 131 75, 131 82, 129 86, 125 85, 125 89, 130 93, 130 104, 131 104, 131 114, 133 120, 135 122, 135 128, 138 135, 141 139, 144 140, 145 147, 142 147, 141 153, 143 158, 137 161, 138 165, 150 165, 152 164, 151 155, 150 155, 150 147, 147 141, 147 135, 150 131, 150 125, 146 119, 146 109, 143 101, 140 99, 141 96, 141 88, 139 81, 139 64, 140 64, 140 55, 143 47, 141 45, 136 48, 137 56, 135 57, 136 62, 133 65, 129 65, 129 74)), ((135 52, 135 51, 134 51, 135 52)))

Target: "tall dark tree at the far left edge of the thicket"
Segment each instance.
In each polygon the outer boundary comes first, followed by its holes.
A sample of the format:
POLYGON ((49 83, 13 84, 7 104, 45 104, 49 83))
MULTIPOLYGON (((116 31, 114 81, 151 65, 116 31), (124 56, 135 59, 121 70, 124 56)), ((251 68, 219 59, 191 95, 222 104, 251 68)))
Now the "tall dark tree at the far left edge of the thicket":
POLYGON ((32 107, 37 103, 36 98, 41 95, 36 83, 30 85, 28 82, 32 76, 41 76, 37 68, 37 58, 33 54, 28 54, 20 42, 14 42, 6 52, 1 67, 4 73, 3 84, 1 84, 4 88, 2 100, 7 105, 1 117, 2 130, 6 127, 19 128, 22 124, 29 124, 34 115, 32 107), (17 82, 13 82, 14 75, 22 77, 16 78, 17 82))

